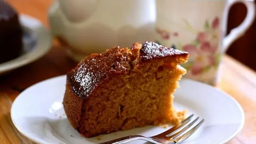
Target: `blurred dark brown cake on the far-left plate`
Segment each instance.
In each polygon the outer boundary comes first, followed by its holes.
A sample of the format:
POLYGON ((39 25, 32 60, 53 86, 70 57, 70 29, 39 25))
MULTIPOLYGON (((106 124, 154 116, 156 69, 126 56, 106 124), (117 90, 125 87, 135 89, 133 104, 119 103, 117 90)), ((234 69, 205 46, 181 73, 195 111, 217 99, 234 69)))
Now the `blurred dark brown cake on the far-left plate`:
POLYGON ((0 0, 0 63, 18 57, 22 52, 22 28, 18 13, 0 0))

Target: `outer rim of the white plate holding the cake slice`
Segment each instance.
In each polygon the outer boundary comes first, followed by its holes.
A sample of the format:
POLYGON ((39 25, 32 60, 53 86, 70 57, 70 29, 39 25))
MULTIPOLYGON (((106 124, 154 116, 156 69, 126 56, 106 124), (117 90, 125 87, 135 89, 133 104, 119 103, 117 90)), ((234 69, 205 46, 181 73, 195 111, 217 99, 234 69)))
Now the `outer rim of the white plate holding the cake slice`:
MULTIPOLYGON (((38 85, 38 84, 41 84, 41 83, 44 83, 44 82, 47 82, 47 81, 50 81, 50 80, 58 79, 58 78, 66 78, 66 74, 60 75, 60 76, 55 76, 55 77, 52 77, 52 78, 48 78, 48 79, 46 79, 46 80, 42 80, 42 81, 40 81, 40 82, 37 82, 37 83, 35 83, 35 84, 29 86, 29 87, 26 88, 24 91, 22 91, 22 92, 14 99, 14 101, 13 101, 13 103, 12 103, 11 110, 10 110, 10 117, 11 117, 12 123, 14 124, 15 128, 16 128, 22 135, 24 135, 26 138, 32 140, 33 142, 40 143, 40 144, 51 144, 51 143, 45 142, 45 141, 42 140, 42 139, 35 138, 35 137, 31 136, 30 134, 26 134, 25 132, 23 132, 23 131, 18 127, 18 125, 16 124, 15 120, 13 119, 13 117, 14 117, 14 116, 13 116, 13 113, 14 113, 14 112, 13 112, 13 111, 14 111, 13 106, 14 106, 14 104, 17 102, 18 97, 19 97, 22 93, 24 93, 24 92, 26 92, 27 90, 29 90, 30 88, 33 88, 34 86, 36 86, 36 85, 38 85)), ((181 81, 195 82, 195 83, 197 83, 197 84, 204 85, 204 86, 206 86, 206 87, 208 87, 208 88, 212 88, 212 89, 214 89, 214 90, 216 90, 216 91, 222 93, 224 96, 229 97, 229 98, 234 102, 234 104, 237 106, 237 108, 239 109, 239 112, 240 112, 240 114, 242 115, 242 117, 241 117, 241 122, 240 122, 239 127, 237 128, 236 132, 234 132, 234 134, 232 134, 231 136, 229 136, 228 138, 226 138, 226 140, 224 140, 224 141, 221 142, 220 144, 225 144, 225 143, 227 143, 227 142, 230 142, 233 138, 235 138, 235 137, 242 131, 242 128, 244 127, 244 124, 245 124, 245 113, 244 113, 244 110, 243 110, 242 106, 239 104, 239 102, 238 102, 234 97, 232 97, 230 94, 228 94, 228 93, 226 93, 226 92, 220 90, 219 88, 216 88, 216 87, 211 86, 211 85, 209 85, 209 84, 205 84, 205 83, 200 82, 200 81, 192 80, 192 79, 189 79, 189 78, 182 78, 181 81)))

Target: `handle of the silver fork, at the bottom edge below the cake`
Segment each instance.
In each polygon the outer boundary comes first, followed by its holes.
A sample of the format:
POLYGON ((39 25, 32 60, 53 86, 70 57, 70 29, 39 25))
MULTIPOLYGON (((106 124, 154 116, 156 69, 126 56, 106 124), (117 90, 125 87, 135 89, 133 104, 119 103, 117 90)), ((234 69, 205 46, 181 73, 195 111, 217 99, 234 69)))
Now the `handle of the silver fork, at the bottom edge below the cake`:
POLYGON ((114 140, 110 140, 108 142, 102 142, 100 144, 124 144, 126 142, 130 142, 132 140, 145 140, 144 136, 140 136, 140 135, 132 135, 132 136, 125 136, 122 138, 117 138, 114 140))

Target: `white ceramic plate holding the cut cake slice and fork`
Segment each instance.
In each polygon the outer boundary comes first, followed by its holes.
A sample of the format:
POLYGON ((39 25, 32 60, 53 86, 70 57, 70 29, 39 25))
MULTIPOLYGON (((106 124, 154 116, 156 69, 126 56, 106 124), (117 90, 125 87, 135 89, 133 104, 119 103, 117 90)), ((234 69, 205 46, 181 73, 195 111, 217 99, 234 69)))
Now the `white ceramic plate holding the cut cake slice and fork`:
MULTIPOLYGON (((69 124, 62 106, 66 76, 39 82, 24 90, 11 109, 16 128, 40 144, 97 144, 131 134, 152 136, 167 128, 147 126, 114 132, 97 137, 81 137, 69 124)), ((174 104, 179 110, 188 110, 205 119, 204 124, 184 144, 223 144, 240 132, 244 125, 241 106, 228 94, 192 80, 183 79, 176 90, 174 104)), ((130 144, 144 144, 133 141, 130 144)))

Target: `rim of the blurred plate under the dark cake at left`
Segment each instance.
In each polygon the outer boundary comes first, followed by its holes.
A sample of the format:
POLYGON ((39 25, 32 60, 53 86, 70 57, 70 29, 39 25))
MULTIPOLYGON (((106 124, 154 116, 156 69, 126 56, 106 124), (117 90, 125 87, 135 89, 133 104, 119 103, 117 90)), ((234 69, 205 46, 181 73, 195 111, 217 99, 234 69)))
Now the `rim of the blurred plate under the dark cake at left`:
POLYGON ((30 52, 0 64, 0 75, 38 60, 51 49, 53 44, 53 36, 50 30, 46 29, 40 20, 22 13, 19 14, 19 20, 22 28, 32 30, 35 33, 36 40, 38 40, 37 44, 30 52), (42 38, 38 38, 38 36, 46 37, 42 40, 42 38), (44 46, 41 46, 42 44, 44 46))

